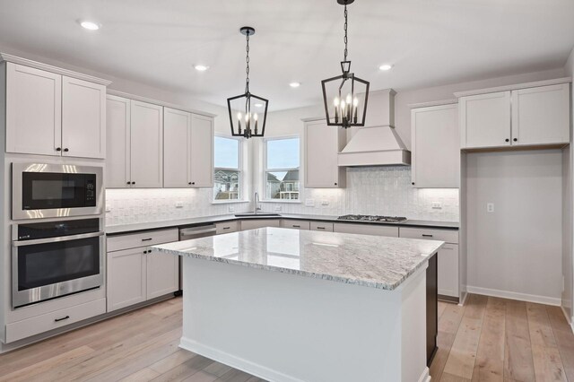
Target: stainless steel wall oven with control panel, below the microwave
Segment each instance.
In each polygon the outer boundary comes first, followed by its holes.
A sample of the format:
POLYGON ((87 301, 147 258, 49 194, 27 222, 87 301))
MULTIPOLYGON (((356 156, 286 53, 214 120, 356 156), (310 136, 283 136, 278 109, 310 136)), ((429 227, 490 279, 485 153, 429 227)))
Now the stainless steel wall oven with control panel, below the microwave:
POLYGON ((102 218, 13 224, 13 308, 103 285, 102 229, 102 218))

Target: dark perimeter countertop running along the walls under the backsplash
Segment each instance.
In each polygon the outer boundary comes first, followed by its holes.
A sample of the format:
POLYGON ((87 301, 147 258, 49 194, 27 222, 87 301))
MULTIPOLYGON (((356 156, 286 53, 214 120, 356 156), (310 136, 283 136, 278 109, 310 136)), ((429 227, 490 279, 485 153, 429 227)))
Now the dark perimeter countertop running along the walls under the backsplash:
POLYGON ((331 222, 341 222, 341 223, 355 223, 355 224, 378 224, 378 225, 390 225, 398 227, 420 227, 420 228, 439 228, 445 230, 458 230, 457 221, 421 221, 421 220, 407 220, 400 223, 393 222, 378 222, 378 221, 340 221, 337 220, 337 216, 329 215, 309 215, 309 214, 294 214, 294 213, 282 213, 280 216, 235 216, 230 215, 216 215, 216 216, 204 216, 199 218, 188 218, 172 221, 150 221, 144 223, 132 223, 132 224, 121 224, 112 225, 106 227, 106 233, 109 235, 136 232, 140 230, 158 230, 164 228, 173 227, 187 227, 199 224, 209 224, 222 221, 239 221, 246 219, 294 219, 294 220, 309 220, 309 221, 331 221, 331 222))

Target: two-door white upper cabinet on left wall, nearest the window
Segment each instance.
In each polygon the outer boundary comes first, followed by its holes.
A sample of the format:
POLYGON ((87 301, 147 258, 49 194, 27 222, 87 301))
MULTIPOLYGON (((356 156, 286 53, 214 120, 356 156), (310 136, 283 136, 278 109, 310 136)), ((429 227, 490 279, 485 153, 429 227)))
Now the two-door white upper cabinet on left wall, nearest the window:
POLYGON ((164 108, 164 187, 213 187, 213 118, 164 108))

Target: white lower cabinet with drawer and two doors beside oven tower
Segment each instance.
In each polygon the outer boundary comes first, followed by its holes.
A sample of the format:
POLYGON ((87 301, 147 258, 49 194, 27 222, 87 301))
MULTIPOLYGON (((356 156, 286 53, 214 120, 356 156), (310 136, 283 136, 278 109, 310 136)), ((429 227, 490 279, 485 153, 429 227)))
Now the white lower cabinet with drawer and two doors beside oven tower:
POLYGON ((108 252, 108 311, 152 300, 179 289, 178 256, 152 252, 150 247, 141 247, 141 240, 153 241, 152 244, 178 241, 178 230, 152 231, 108 239, 108 247, 117 248, 108 252), (124 249, 130 245, 140 247, 124 249))

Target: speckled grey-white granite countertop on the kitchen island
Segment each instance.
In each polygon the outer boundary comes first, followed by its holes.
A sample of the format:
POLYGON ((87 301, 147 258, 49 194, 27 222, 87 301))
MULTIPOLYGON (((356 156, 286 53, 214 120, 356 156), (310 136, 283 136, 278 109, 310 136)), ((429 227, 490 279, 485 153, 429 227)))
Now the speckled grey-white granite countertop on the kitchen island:
POLYGON ((443 245, 436 240, 262 228, 152 250, 392 291, 443 245))

